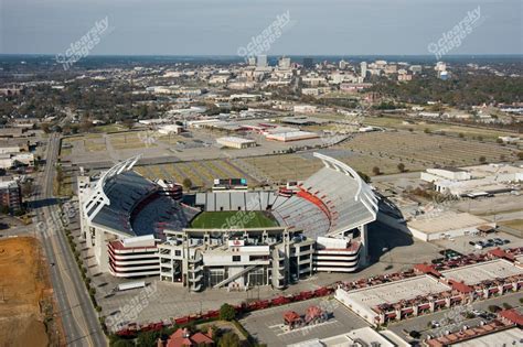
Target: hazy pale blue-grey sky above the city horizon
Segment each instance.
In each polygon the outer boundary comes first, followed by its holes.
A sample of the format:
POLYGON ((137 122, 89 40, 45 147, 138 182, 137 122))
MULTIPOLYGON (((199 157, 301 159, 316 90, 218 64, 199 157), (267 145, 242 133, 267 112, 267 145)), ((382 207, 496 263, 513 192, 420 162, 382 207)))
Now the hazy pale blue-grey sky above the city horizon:
POLYGON ((523 0, 0 0, 0 53, 62 54, 105 18, 93 55, 236 55, 289 13, 268 55, 425 55, 479 9, 450 54, 523 54, 523 0))

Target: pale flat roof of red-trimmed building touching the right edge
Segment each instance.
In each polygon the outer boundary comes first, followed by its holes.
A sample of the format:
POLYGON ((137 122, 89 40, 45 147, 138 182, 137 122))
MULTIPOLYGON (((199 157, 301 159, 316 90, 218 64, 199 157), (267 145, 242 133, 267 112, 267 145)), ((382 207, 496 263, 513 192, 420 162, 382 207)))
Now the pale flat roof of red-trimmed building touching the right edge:
POLYGON ((503 259, 441 271, 441 274, 446 279, 463 282, 468 285, 473 285, 484 280, 509 278, 511 275, 517 275, 522 273, 522 268, 519 268, 510 261, 503 259))

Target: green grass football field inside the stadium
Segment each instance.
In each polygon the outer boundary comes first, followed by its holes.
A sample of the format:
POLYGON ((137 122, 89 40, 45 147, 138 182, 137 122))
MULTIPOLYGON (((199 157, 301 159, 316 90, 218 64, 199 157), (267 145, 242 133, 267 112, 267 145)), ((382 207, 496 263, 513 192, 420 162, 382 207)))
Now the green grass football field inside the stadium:
POLYGON ((203 212, 191 221, 191 228, 266 228, 277 227, 278 223, 263 212, 203 212))

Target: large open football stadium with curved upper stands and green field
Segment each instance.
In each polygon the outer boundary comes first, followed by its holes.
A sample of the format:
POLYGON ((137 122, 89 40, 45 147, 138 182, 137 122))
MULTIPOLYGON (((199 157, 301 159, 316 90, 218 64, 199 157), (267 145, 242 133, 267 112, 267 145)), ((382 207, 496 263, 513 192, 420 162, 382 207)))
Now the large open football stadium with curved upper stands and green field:
POLYGON ((222 178, 192 194, 141 176, 139 156, 128 159, 78 176, 82 237, 102 272, 191 291, 285 289, 314 272, 354 272, 369 261, 377 199, 349 165, 314 158, 324 167, 276 191, 222 178))

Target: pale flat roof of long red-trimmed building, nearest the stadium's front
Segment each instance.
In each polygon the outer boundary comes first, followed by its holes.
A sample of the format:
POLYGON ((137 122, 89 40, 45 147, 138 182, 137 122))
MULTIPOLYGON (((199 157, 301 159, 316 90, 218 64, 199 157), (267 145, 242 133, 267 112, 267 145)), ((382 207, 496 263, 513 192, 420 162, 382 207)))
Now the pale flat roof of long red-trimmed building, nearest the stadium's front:
POLYGON ((394 281, 362 290, 348 292, 349 297, 370 308, 380 304, 394 304, 402 300, 410 300, 418 295, 427 296, 450 290, 428 275, 418 275, 410 279, 394 281))

